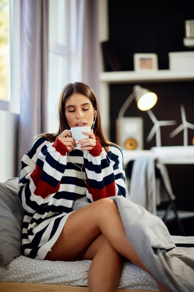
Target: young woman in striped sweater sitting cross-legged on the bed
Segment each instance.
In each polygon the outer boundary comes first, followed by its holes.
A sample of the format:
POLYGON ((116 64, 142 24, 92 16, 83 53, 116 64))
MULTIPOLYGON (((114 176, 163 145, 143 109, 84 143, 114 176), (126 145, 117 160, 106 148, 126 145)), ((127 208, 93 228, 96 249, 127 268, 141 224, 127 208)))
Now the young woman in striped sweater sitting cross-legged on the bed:
POLYGON ((123 156, 103 135, 91 88, 81 82, 64 88, 58 132, 39 135, 21 164, 19 197, 25 209, 25 256, 91 259, 90 292, 115 291, 123 257, 146 270, 126 236, 115 202, 108 199, 126 195, 123 156), (91 126, 91 132, 85 132, 89 138, 75 141, 69 129, 82 126, 91 126), (79 199, 92 203, 73 212, 79 199))

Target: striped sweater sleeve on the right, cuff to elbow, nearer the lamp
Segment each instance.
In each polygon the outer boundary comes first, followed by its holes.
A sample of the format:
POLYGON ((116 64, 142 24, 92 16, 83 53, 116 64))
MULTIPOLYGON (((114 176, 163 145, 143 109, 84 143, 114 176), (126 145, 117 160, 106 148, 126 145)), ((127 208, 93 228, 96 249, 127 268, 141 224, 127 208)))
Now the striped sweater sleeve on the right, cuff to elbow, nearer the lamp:
POLYGON ((99 146, 93 151, 83 150, 84 166, 87 176, 86 196, 97 201, 112 196, 126 197, 123 154, 119 147, 110 146, 109 153, 99 146))

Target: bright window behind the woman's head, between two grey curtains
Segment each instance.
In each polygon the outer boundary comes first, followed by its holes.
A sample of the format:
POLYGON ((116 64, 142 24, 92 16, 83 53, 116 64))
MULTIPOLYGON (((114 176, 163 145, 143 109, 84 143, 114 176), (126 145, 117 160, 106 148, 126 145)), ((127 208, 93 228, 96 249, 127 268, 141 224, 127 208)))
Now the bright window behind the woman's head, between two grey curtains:
POLYGON ((49 0, 48 130, 58 129, 58 101, 65 85, 81 81, 84 1, 49 0))

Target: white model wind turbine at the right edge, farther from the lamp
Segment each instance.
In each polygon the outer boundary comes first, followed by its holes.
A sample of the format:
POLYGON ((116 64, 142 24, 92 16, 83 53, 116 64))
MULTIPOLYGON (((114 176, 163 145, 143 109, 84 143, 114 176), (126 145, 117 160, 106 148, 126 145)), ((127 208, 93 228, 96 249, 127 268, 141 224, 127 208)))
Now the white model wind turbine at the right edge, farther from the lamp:
POLYGON ((170 133, 170 138, 175 137, 179 132, 183 130, 184 135, 184 146, 188 146, 188 128, 194 130, 194 125, 191 123, 188 123, 186 120, 186 114, 185 114, 185 108, 183 105, 180 106, 181 111, 181 118, 182 118, 182 124, 178 126, 172 133, 170 133))

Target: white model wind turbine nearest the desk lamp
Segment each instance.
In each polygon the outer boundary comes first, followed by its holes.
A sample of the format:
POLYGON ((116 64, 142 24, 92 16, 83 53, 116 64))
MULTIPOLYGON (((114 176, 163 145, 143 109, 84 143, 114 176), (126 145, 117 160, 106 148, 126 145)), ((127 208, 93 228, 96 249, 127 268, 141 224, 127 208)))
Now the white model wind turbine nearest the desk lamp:
POLYGON ((152 122, 154 123, 154 126, 152 127, 149 135, 147 136, 146 141, 150 142, 154 134, 156 133, 156 146, 160 147, 161 146, 161 128, 160 127, 175 125, 176 121, 158 121, 151 110, 147 110, 147 113, 150 119, 152 120, 152 122))

